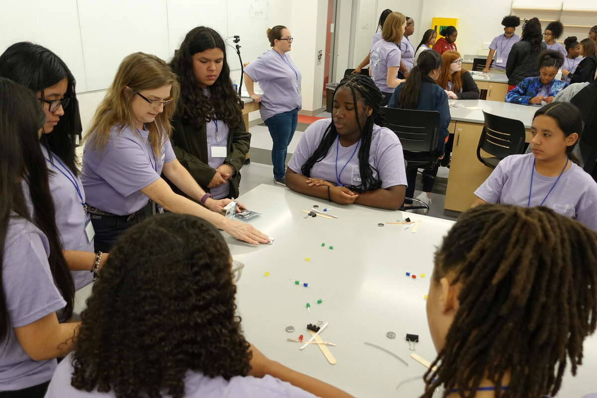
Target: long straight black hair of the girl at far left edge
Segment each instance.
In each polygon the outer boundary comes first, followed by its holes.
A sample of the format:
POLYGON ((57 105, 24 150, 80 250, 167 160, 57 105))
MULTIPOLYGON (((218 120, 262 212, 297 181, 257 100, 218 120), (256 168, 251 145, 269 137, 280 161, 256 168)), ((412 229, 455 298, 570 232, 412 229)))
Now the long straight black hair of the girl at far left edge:
MULTIPOLYGON (((66 300, 64 315, 70 317, 75 296, 72 276, 66 266, 54 219, 54 202, 48 184, 48 169, 39 146, 38 131, 44 125, 44 112, 30 90, 0 77, 0 286, 4 245, 11 213, 32 221, 50 244, 50 271, 60 294, 66 300), (33 219, 29 215, 20 181, 29 184, 33 219)), ((35 294, 35 292, 27 292, 35 294)), ((10 328, 4 289, 0 289, 0 342, 10 328)))

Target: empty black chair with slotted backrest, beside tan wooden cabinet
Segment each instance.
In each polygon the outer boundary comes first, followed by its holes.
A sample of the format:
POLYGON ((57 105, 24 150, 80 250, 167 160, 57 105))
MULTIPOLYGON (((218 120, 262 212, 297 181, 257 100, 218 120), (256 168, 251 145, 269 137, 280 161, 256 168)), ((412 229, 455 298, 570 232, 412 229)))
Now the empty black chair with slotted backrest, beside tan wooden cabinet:
POLYGON ((485 126, 477 146, 477 158, 485 166, 496 168, 501 159, 509 155, 524 153, 524 124, 516 119, 503 118, 483 112, 485 126), (481 156, 481 150, 492 155, 481 156))

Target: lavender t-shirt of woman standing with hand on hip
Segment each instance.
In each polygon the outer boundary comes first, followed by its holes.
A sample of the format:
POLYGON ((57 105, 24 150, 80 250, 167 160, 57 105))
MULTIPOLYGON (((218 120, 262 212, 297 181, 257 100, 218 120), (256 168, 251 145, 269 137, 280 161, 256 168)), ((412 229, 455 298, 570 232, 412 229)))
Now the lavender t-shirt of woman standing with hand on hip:
POLYGON ((282 55, 276 50, 266 51, 245 67, 245 73, 254 82, 259 82, 263 90, 259 110, 261 119, 301 109, 301 74, 288 53, 282 55))

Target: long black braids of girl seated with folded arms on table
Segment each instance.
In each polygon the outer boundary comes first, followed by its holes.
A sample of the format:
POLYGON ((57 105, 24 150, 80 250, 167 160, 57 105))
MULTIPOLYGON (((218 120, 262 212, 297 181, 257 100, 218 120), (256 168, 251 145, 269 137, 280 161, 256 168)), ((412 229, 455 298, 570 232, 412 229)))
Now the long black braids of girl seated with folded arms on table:
MULTIPOLYGON (((384 125, 383 115, 380 112, 381 104, 381 91, 377 88, 369 76, 364 75, 350 75, 340 81, 340 84, 334 91, 334 97, 336 92, 340 88, 350 88, 352 92, 353 103, 355 104, 355 115, 356 124, 361 129, 361 147, 359 148, 359 170, 361 171, 361 185, 349 186, 350 190, 355 192, 365 192, 370 190, 376 190, 381 188, 381 180, 374 178, 373 171, 377 172, 377 169, 369 163, 369 153, 371 150, 371 139, 373 138, 373 125, 378 126, 384 125), (359 120, 359 112, 356 106, 357 101, 362 101, 365 105, 371 107, 373 112, 371 116, 368 116, 364 123, 359 120)), ((332 98, 333 99, 333 98, 332 98)), ((322 161, 329 152, 332 144, 338 138, 338 132, 334 121, 325 129, 324 136, 321 138, 321 142, 313 155, 304 163, 301 167, 303 175, 310 177, 311 169, 315 163, 322 161)), ((338 138, 339 139, 339 138, 338 138)))

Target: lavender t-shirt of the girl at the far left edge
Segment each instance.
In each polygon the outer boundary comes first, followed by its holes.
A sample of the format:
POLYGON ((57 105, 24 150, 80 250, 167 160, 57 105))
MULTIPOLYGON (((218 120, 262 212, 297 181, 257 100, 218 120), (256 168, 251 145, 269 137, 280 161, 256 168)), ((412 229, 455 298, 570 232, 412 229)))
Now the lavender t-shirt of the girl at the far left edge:
POLYGON ((46 382, 56 359, 35 361, 23 350, 14 328, 29 325, 66 306, 48 264, 48 239, 32 223, 11 214, 4 242, 2 288, 9 330, 0 343, 0 391, 21 390, 46 382))

